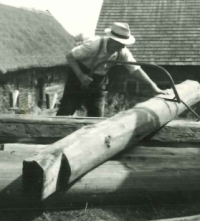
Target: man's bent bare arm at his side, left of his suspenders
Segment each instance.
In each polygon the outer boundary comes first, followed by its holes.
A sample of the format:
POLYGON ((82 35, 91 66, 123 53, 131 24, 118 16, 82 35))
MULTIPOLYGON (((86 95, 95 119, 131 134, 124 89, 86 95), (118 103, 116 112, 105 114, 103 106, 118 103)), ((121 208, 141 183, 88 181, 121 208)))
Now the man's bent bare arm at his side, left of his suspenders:
POLYGON ((93 79, 81 71, 76 59, 72 55, 72 52, 68 53, 66 58, 67 58, 68 64, 74 70, 74 72, 75 72, 77 78, 79 79, 79 81, 81 82, 81 84, 83 86, 88 86, 93 81, 93 79))

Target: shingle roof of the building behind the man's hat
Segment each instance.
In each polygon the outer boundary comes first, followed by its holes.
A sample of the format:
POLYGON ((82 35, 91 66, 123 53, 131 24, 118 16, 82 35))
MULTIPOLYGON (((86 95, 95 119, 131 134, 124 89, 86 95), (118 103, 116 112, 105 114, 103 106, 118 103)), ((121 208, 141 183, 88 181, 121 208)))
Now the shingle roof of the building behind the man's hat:
POLYGON ((140 62, 200 65, 200 0, 104 0, 96 34, 127 22, 140 62))

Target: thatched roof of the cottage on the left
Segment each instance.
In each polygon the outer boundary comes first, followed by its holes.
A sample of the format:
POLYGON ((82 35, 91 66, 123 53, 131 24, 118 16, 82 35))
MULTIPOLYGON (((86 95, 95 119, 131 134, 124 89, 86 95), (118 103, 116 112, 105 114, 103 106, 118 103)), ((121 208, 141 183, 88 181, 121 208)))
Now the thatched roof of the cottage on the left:
POLYGON ((66 64, 72 37, 49 12, 0 4, 0 72, 66 64))

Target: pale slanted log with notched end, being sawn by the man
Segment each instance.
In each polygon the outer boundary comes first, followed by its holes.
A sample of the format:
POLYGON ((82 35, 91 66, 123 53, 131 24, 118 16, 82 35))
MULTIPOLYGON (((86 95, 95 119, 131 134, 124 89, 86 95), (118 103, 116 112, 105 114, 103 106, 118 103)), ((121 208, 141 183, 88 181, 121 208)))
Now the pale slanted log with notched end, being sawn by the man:
MULTIPOLYGON (((186 81, 176 88, 187 105, 199 101, 198 82, 186 81)), ((23 162, 24 188, 37 190, 41 199, 45 199, 60 188, 58 179, 61 170, 65 171, 62 182, 71 184, 171 121, 185 109, 183 103, 156 97, 110 119, 83 127, 23 162)))

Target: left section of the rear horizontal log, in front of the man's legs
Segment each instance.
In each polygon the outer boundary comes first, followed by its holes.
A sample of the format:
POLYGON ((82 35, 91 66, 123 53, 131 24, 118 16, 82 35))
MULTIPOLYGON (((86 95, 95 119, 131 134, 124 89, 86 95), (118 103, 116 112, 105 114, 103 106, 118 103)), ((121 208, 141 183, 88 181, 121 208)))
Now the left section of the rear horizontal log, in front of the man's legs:
POLYGON ((53 143, 85 125, 105 118, 45 117, 35 115, 0 116, 0 143, 53 143))

